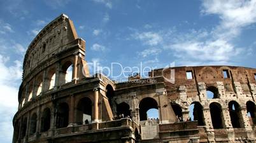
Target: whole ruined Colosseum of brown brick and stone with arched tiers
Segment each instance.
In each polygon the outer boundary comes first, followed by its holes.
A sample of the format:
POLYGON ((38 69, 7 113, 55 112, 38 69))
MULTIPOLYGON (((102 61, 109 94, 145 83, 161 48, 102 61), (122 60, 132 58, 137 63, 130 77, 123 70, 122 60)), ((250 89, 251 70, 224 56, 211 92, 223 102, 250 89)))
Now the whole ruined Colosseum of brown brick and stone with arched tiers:
POLYGON ((13 143, 255 142, 255 68, 181 66, 115 82, 90 75, 85 54, 66 15, 36 35, 25 53, 13 143), (149 109, 159 118, 148 118, 149 109))

